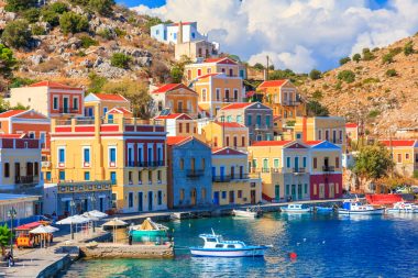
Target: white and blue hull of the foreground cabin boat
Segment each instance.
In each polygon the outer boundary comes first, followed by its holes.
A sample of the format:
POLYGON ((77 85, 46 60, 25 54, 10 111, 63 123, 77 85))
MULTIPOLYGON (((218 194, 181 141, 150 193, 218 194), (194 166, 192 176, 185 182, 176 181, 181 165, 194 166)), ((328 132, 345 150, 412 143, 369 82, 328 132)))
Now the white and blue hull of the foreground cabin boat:
POLYGON ((190 253, 195 257, 263 257, 266 249, 266 246, 248 246, 243 249, 205 249, 190 247, 190 253))

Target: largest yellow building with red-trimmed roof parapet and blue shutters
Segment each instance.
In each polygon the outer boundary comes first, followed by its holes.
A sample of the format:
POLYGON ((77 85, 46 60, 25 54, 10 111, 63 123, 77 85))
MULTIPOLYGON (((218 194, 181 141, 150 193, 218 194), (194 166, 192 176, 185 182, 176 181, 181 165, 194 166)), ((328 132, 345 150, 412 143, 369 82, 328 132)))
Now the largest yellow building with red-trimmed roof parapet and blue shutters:
MULTIPOLYGON (((99 107, 95 107, 99 114, 99 107)), ((119 212, 167 208, 164 125, 114 113, 110 119, 53 121, 51 184, 111 181, 119 212)), ((82 193, 78 192, 78 193, 82 193)))

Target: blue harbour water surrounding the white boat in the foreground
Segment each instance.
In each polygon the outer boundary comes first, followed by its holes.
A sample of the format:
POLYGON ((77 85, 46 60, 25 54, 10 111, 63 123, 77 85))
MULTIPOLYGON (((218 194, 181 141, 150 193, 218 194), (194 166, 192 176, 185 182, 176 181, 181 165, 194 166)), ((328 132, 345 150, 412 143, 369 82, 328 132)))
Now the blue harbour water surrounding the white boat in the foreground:
POLYGON ((266 214, 168 224, 177 246, 196 246, 213 227, 226 240, 273 244, 264 258, 80 260, 64 277, 418 277, 418 215, 266 214), (295 252, 296 260, 288 258, 295 252))

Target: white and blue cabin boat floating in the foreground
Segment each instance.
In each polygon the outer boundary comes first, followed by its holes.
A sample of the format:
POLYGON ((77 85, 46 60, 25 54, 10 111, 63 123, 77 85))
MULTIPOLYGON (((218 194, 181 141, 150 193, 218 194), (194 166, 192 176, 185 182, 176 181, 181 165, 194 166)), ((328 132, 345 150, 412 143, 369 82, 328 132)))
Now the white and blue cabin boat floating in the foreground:
POLYGON ((272 245, 250 246, 241 241, 224 241, 222 235, 200 234, 200 238, 205 241, 202 247, 190 247, 193 256, 198 257, 262 257, 264 252, 272 245))

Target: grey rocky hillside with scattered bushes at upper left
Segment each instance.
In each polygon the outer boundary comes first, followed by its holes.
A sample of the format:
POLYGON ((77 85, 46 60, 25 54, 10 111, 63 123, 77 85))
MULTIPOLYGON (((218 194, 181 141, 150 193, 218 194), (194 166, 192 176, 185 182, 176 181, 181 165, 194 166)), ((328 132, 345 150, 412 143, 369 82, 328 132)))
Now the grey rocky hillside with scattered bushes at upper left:
POLYGON ((2 36, 2 43, 12 47, 19 60, 14 77, 87 86, 91 73, 108 80, 157 78, 163 81, 169 75, 173 47, 148 35, 148 26, 156 19, 138 15, 119 5, 100 13, 84 5, 88 0, 51 0, 44 7, 13 12, 6 2, 0 1, 1 32, 13 22, 22 21, 29 23, 31 32, 23 46, 11 46, 2 36), (64 5, 53 7, 56 2, 64 5), (65 13, 80 15, 77 20, 85 20, 87 25, 77 23, 78 30, 68 32, 62 21, 65 13))

